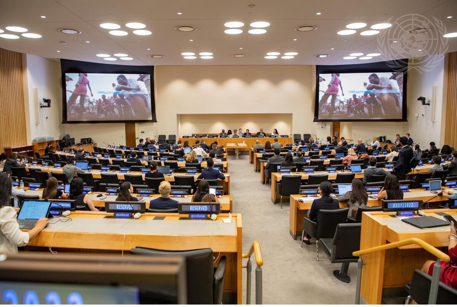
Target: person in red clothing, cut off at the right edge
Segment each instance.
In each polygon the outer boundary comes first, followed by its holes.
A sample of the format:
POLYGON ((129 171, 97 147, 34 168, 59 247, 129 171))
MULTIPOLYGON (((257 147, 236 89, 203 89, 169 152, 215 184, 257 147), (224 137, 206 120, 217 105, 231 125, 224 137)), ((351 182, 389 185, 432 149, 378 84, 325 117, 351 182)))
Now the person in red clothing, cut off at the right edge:
MULTIPOLYGON (((451 222, 451 233, 448 236, 449 245, 447 246, 447 254, 449 254, 451 261, 440 261, 440 281, 457 289, 457 232, 455 227, 454 222, 451 222)), ((431 276, 433 275, 433 265, 435 265, 435 260, 426 260, 420 270, 431 276)))

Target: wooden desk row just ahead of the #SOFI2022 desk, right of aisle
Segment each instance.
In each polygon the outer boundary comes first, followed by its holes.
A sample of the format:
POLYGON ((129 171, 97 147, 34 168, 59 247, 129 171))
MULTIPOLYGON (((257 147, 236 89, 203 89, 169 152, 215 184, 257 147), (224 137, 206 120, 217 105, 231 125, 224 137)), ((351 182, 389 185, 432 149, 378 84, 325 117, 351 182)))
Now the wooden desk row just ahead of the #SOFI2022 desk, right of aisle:
MULTIPOLYGON (((430 191, 425 191, 421 189, 413 189, 411 192, 404 193, 404 199, 420 199, 422 201, 429 201, 432 197, 435 197, 436 194, 431 193, 430 191)), ((291 195, 290 196, 290 208, 289 208, 289 233, 292 238, 295 240, 297 236, 302 235, 302 221, 303 217, 306 217, 308 210, 311 209, 311 204, 314 199, 319 197, 303 197, 303 195, 291 195), (302 199, 303 202, 298 200, 302 199)), ((446 198, 443 196, 437 196, 430 203, 446 201, 446 198)), ((382 201, 377 199, 368 198, 369 207, 381 206, 382 201)), ((436 206, 436 205, 435 205, 436 206)), ((347 208, 346 202, 340 202, 341 208, 347 208)))

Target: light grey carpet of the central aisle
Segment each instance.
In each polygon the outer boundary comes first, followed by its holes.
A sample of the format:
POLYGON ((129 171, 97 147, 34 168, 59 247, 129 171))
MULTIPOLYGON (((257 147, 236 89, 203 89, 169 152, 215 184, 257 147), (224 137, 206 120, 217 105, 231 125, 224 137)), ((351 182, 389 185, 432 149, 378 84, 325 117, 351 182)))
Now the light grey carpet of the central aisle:
MULTIPOLYGON (((259 241, 264 265, 263 304, 354 304, 357 264, 349 266, 351 283, 333 276, 340 264, 331 264, 324 252, 316 258, 314 239, 300 247, 300 241, 289 234, 289 201, 271 202, 270 186, 260 183, 248 156, 228 157, 230 193, 233 212, 243 218, 243 252, 254 240, 259 241)), ((243 260, 243 266, 246 265, 243 260)), ((255 258, 252 261, 251 303, 255 303, 255 258)), ((243 269, 243 303, 246 303, 246 269, 243 269)))

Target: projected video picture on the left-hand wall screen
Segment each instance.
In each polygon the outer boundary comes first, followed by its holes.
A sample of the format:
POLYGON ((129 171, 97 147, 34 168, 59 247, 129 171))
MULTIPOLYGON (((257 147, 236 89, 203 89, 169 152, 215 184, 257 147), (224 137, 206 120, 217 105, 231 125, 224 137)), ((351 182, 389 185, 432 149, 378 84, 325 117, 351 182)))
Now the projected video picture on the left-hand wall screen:
POLYGON ((150 74, 65 74, 67 121, 151 120, 150 74))

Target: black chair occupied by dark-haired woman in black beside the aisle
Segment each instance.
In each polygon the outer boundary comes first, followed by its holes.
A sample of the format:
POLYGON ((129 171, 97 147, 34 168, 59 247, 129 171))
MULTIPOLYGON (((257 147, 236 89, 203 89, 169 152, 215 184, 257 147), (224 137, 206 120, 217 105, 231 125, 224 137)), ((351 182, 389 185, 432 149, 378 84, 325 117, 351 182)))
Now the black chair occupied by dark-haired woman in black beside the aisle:
POLYGON ((311 221, 308 217, 303 217, 302 247, 305 233, 312 238, 316 238, 317 261, 319 261, 319 239, 333 238, 338 224, 344 224, 346 222, 348 212, 349 208, 319 210, 317 223, 311 221))

